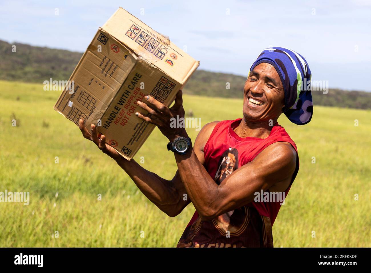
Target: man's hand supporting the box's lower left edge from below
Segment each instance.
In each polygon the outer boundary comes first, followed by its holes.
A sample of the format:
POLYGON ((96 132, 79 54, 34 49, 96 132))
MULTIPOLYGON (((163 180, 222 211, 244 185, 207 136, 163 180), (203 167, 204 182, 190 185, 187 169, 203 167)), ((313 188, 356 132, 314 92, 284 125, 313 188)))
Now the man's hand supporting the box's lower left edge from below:
POLYGON ((94 124, 91 125, 92 133, 86 129, 83 120, 79 120, 79 128, 83 137, 94 142, 102 152, 112 157, 116 161, 123 158, 114 148, 106 144, 106 137, 103 134, 100 138, 98 137, 98 132, 96 131, 96 126, 94 124))

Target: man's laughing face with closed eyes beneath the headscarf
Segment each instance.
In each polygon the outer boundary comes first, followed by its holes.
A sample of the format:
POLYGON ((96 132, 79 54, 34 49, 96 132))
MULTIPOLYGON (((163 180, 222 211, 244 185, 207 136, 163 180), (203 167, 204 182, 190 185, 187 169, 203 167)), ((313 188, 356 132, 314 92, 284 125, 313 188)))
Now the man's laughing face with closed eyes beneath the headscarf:
POLYGON ((243 116, 252 122, 275 120, 282 113, 284 101, 285 92, 274 66, 255 66, 244 87, 243 116))

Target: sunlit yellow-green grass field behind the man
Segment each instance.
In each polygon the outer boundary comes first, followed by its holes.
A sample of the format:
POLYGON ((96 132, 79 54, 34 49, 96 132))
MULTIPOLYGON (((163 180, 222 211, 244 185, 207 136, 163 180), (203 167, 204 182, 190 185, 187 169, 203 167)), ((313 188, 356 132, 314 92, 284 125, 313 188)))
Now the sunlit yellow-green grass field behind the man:
MULTIPOLYGON (((53 110, 59 94, 0 81, 0 191, 30 192, 29 205, 0 203, 0 247, 176 246, 193 205, 175 218, 161 212, 53 110)), ((202 125, 242 116, 236 99, 185 94, 184 108, 202 125)), ((371 111, 315 106, 305 126, 284 115, 279 123, 298 146, 300 169, 273 225, 275 247, 371 247, 371 111)), ((187 131, 195 139, 197 131, 187 131)), ((144 168, 171 179, 176 164, 166 143, 155 129, 135 159, 144 156, 144 168)))

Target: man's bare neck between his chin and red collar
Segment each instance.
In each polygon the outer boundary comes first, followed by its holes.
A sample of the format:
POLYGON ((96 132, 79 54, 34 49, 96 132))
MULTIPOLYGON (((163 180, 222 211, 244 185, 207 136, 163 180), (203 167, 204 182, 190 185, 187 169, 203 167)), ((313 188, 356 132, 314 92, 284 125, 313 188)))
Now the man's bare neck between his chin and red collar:
POLYGON ((272 123, 267 121, 262 122, 250 122, 245 118, 242 118, 240 124, 233 131, 239 137, 259 137, 265 139, 269 136, 272 131, 273 125, 277 122, 277 119, 273 120, 272 123), (269 126, 272 124, 272 126, 269 126))

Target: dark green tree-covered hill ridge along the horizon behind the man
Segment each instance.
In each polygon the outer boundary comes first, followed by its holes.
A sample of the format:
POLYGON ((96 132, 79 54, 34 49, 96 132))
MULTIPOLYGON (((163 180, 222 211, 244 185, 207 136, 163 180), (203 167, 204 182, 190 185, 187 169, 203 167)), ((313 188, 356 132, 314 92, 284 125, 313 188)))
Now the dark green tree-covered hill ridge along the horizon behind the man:
MULTIPOLYGON (((49 78, 67 80, 82 53, 61 49, 8 43, 0 40, 0 79, 42 83, 49 78), (12 46, 16 52, 12 52, 12 46)), ((247 75, 246 75, 247 76, 247 75)), ((197 70, 188 81, 187 94, 242 98, 246 77, 197 70), (230 89, 226 89, 226 83, 230 89)), ((371 109, 371 92, 330 89, 328 94, 313 91, 314 105, 371 109)))

